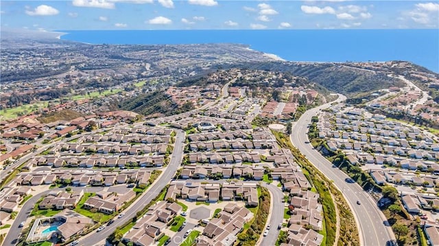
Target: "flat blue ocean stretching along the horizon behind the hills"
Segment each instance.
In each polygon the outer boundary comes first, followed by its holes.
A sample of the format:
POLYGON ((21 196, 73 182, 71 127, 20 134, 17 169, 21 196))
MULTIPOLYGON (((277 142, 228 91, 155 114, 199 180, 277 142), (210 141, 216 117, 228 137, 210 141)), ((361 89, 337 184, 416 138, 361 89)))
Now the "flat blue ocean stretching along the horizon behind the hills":
POLYGON ((91 44, 239 43, 284 60, 405 60, 439 73, 439 29, 63 30, 62 40, 91 44))

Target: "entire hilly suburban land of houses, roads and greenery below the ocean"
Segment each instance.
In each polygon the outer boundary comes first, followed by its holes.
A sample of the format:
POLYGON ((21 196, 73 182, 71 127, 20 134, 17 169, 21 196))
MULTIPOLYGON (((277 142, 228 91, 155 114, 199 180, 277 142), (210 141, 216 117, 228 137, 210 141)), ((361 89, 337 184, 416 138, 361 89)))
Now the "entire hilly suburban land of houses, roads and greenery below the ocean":
POLYGON ((439 245, 438 74, 51 42, 1 49, 3 245, 439 245))

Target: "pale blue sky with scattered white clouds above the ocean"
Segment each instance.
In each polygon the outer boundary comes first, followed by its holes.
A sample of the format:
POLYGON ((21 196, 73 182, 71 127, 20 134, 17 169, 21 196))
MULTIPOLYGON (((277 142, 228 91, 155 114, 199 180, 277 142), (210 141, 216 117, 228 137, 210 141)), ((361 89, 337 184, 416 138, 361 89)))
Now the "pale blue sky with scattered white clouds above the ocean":
POLYGON ((438 29, 439 1, 0 1, 3 28, 438 29))

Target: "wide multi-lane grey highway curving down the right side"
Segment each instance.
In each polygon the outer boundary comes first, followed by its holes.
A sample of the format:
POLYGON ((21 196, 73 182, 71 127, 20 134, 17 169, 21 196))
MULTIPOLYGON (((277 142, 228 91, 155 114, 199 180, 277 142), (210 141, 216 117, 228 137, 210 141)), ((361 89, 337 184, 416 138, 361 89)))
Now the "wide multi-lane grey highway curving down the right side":
MULTIPOLYGON (((346 97, 340 96, 337 101, 344 99, 346 97)), ((348 175, 340 169, 333 168, 331 162, 321 156, 310 144, 305 143, 308 140, 307 125, 311 122, 311 116, 316 115, 320 109, 329 106, 331 104, 327 103, 305 112, 293 126, 291 141, 315 167, 330 180, 333 180, 335 186, 342 190, 359 226, 360 245, 385 245, 386 241, 394 239, 394 234, 389 227, 383 225, 385 217, 375 201, 358 184, 346 183, 345 179, 348 175), (361 201, 361 205, 357 205, 357 201, 361 201)))

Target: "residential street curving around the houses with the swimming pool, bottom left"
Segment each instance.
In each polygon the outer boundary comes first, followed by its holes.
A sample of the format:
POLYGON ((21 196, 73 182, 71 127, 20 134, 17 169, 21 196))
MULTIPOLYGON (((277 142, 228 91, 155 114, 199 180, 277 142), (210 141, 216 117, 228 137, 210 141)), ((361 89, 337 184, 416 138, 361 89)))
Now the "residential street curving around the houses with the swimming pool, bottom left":
MULTIPOLYGON (((71 187, 72 190, 84 190, 84 187, 71 187)), ((99 190, 102 190, 102 187, 88 187, 88 192, 97 192, 99 190)), ((36 201, 46 195, 47 193, 54 191, 54 190, 64 190, 64 188, 54 188, 51 190, 45 190, 43 193, 39 193, 38 195, 35 195, 31 199, 27 200, 26 203, 21 208, 19 214, 17 214, 14 223, 12 223, 11 228, 8 232, 8 235, 6 235, 5 241, 3 243, 3 246, 14 246, 17 243, 17 238, 19 238, 21 234, 21 230, 23 230, 24 227, 19 227, 20 223, 22 221, 26 221, 27 217, 29 217, 30 212, 32 212, 32 209, 34 209, 34 205, 36 204, 36 201)), ((60 210, 61 211, 61 210, 60 210)), ((25 227, 29 227, 30 225, 25 225, 25 227)))

